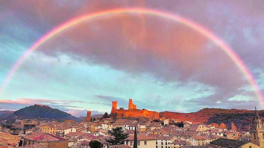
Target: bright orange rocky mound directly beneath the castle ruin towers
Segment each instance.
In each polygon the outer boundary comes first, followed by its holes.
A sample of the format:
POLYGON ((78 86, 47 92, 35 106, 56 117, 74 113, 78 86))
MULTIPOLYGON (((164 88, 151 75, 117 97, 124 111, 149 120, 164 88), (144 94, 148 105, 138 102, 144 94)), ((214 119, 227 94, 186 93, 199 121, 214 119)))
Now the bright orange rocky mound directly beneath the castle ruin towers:
POLYGON ((110 116, 113 118, 147 118, 149 120, 159 119, 159 113, 146 109, 113 109, 110 116))

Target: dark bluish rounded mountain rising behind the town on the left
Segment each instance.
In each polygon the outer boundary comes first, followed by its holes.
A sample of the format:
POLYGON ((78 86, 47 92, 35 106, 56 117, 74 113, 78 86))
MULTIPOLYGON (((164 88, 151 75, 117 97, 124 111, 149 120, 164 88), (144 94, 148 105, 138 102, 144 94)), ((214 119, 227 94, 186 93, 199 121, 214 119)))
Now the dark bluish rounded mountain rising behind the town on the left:
POLYGON ((66 112, 62 112, 58 109, 52 109, 46 105, 32 105, 13 112, 12 116, 18 116, 19 118, 53 118, 60 120, 72 119, 76 122, 81 121, 79 118, 74 117, 66 112))

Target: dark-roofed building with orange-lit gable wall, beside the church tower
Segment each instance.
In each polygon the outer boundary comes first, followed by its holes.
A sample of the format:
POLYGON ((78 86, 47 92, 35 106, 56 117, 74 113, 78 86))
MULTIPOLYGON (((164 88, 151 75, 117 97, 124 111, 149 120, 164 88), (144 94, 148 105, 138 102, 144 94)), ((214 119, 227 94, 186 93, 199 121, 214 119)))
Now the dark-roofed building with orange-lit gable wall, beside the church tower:
POLYGON ((239 141, 227 138, 219 138, 215 141, 211 141, 210 144, 213 147, 220 148, 258 148, 256 144, 251 143, 250 141, 239 141))

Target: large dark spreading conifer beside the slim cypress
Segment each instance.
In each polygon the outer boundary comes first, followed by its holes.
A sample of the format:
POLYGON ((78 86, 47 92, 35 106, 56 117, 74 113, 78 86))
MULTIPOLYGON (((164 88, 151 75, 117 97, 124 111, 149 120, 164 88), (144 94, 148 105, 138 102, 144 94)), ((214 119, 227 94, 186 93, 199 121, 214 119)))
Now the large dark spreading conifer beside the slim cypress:
POLYGON ((106 141, 109 142, 110 145, 125 144, 125 139, 127 139, 129 135, 124 133, 122 127, 114 128, 113 131, 108 131, 108 133, 114 137, 114 138, 106 139, 106 141))

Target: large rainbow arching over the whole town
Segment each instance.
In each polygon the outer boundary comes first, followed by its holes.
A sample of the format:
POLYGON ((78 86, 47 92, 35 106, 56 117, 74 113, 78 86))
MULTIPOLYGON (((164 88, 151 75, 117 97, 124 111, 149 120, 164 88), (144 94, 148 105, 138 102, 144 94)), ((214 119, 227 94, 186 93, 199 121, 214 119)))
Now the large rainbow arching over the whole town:
MULTIPOLYGON (((262 102, 264 100, 261 91, 254 80, 252 74, 247 69, 246 65, 241 61, 241 59, 233 52, 233 50, 221 39, 219 39, 217 36, 215 36, 213 33, 211 33, 209 30, 203 28, 201 25, 196 24, 195 22, 192 22, 182 16, 178 16, 171 13, 166 13, 163 11, 158 10, 152 10, 152 9, 146 9, 146 8, 119 8, 119 9, 112 9, 112 10, 104 10, 99 11, 95 13, 90 13, 87 15, 79 16, 74 19, 69 20, 68 22, 65 22, 56 28, 52 29, 48 33, 46 33, 44 36, 42 36, 37 42, 35 42, 13 65, 13 67, 10 69, 10 71, 7 73, 3 83, 0 87, 0 94, 3 92, 5 86, 7 85, 8 81, 11 79, 13 74, 16 72, 16 70, 19 68, 19 65, 29 56, 30 53, 38 49, 44 42, 48 41, 52 37, 54 37, 56 34, 60 33, 61 31, 70 28, 78 23, 101 18, 101 17, 110 17, 115 16, 117 14, 146 14, 146 15, 152 15, 152 16, 159 16, 162 18, 170 19, 176 22, 179 22, 183 25, 186 25, 193 30, 201 33, 203 36, 207 37, 211 41, 213 41, 216 45, 218 45, 228 56, 232 61, 235 63, 235 65, 241 70, 241 72, 246 77, 247 81, 250 83, 250 85, 253 87, 256 97, 259 99, 259 102, 262 102)), ((261 106, 263 108, 263 105, 261 103, 261 106)))

